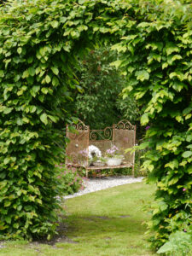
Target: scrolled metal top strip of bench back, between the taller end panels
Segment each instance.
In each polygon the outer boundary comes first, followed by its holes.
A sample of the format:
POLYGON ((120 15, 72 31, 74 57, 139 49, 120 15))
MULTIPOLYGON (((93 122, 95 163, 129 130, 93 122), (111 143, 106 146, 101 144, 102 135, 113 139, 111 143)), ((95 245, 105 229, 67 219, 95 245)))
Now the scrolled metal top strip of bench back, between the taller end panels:
POLYGON ((104 130, 90 130, 90 141, 112 140, 113 128, 106 127, 104 130))

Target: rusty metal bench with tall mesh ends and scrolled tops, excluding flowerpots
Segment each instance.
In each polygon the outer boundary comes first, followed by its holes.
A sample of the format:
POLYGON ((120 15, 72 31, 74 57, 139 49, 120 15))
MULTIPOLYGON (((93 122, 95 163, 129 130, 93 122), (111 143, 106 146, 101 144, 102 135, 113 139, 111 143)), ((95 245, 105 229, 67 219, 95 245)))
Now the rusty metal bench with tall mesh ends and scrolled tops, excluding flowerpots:
MULTIPOLYGON (((84 166, 86 175, 88 169, 96 170, 97 166, 89 166, 89 146, 93 145, 101 149, 102 154, 106 153, 108 148, 115 145, 119 148, 119 152, 124 155, 124 161, 120 167, 132 167, 134 169, 135 154, 124 153, 125 148, 132 148, 136 140, 136 125, 123 119, 118 124, 108 126, 104 130, 90 130, 89 125, 84 125, 79 120, 78 124, 67 125, 67 158, 66 163, 71 166, 84 166)), ((111 168, 106 164, 100 166, 99 169, 111 168)))

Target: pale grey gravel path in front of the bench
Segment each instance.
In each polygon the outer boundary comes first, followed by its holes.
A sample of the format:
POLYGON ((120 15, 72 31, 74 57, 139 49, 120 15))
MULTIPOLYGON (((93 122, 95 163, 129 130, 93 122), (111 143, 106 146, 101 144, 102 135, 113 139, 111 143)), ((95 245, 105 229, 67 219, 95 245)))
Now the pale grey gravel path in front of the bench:
POLYGON ((78 193, 75 193, 73 195, 64 196, 64 198, 73 198, 75 196, 88 194, 102 189, 113 188, 119 185, 124 185, 128 183, 138 183, 141 182, 142 180, 143 177, 131 176, 86 178, 84 179, 84 190, 80 190, 78 193))

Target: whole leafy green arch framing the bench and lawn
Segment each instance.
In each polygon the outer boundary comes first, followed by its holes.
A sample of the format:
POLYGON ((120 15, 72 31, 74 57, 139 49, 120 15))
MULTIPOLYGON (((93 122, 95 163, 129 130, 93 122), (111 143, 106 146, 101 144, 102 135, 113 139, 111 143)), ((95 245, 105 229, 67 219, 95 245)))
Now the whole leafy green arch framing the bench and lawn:
POLYGON ((0 236, 55 232, 60 125, 79 82, 77 57, 102 41, 122 53, 150 125, 144 167, 157 183, 154 246, 191 223, 191 5, 188 1, 15 0, 0 9, 0 236), (172 224, 171 224, 172 223, 172 224))

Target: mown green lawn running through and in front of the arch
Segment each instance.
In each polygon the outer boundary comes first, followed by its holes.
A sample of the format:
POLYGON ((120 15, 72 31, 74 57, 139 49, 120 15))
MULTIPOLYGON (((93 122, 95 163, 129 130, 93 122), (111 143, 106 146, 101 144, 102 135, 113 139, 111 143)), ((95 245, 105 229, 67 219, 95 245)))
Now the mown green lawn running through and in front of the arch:
POLYGON ((68 199, 61 241, 54 246, 12 241, 0 249, 10 256, 155 255, 148 249, 143 222, 150 218, 154 187, 131 183, 68 199))

